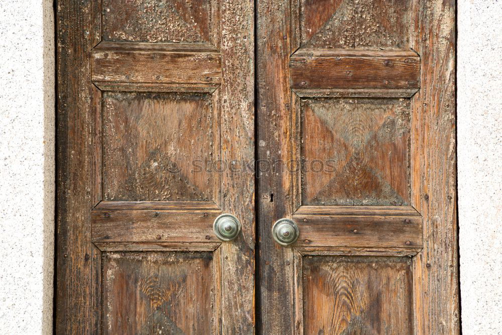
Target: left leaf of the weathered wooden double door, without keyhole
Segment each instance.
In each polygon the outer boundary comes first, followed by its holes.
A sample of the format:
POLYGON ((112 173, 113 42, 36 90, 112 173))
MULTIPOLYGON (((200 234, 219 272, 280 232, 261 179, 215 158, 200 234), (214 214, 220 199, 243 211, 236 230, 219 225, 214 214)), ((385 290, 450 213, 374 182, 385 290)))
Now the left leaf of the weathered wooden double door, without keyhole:
POLYGON ((253 4, 56 6, 56 333, 253 333, 253 4))

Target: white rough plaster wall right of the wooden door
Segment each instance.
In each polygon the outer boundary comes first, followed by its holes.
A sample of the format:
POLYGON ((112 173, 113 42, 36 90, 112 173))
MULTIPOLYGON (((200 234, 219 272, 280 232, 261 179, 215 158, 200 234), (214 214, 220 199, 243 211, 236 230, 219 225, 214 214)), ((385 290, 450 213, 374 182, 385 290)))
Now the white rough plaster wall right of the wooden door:
POLYGON ((502 1, 458 0, 462 331, 502 333, 502 1))

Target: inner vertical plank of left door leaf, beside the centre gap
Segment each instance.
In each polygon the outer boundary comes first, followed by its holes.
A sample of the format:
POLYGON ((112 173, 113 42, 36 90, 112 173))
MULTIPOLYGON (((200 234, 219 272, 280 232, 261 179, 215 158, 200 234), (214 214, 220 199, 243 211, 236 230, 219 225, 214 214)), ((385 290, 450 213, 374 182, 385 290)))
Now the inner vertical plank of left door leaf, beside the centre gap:
POLYGON ((221 308, 224 334, 255 332, 255 177, 245 165, 255 156, 254 2, 220 1, 221 209, 237 216, 242 234, 222 243, 221 308))

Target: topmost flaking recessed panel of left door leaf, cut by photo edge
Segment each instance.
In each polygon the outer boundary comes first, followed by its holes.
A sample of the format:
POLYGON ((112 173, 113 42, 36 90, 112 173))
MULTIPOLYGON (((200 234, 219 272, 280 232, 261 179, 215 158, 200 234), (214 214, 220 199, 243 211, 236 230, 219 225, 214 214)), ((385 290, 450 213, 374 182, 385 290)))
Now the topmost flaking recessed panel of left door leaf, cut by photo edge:
POLYGON ((210 35, 209 0, 107 0, 103 40, 205 42, 210 35))

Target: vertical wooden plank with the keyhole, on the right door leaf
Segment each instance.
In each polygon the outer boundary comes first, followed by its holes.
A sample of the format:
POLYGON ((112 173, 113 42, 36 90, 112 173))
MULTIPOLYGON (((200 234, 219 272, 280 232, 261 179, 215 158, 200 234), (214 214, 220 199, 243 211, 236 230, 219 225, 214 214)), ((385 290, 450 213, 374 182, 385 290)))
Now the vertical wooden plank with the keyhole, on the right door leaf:
MULTIPOLYGON (((258 69, 258 159, 259 243, 260 243, 260 331, 264 334, 297 333, 295 324, 295 281, 293 249, 276 244, 272 225, 293 213, 291 173, 275 164, 292 157, 289 86, 289 56, 296 42, 291 32, 291 9, 298 6, 289 0, 259 0, 257 8, 258 69), (274 169, 275 168, 275 169, 274 169)), ((295 13, 295 11, 293 11, 295 13)), ((295 18, 297 19, 297 18, 295 18)), ((293 25, 294 26, 294 25, 293 25)), ((280 163, 279 163, 280 164, 280 163)), ((296 197, 295 197, 296 198, 296 197)), ((301 325, 298 325, 299 329, 301 325)))

